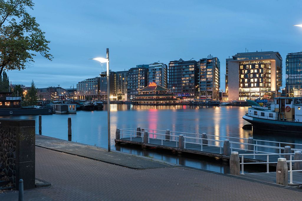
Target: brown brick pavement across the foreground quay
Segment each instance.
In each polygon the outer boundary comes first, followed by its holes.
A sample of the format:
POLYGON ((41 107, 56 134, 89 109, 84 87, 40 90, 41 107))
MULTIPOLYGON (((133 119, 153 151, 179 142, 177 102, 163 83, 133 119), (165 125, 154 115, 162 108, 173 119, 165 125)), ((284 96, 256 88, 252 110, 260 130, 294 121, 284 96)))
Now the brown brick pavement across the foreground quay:
MULTIPOLYGON (((33 200, 302 200, 302 193, 185 167, 134 170, 36 147, 36 177, 50 187, 26 190, 33 200)), ((0 194, 18 200, 18 191, 0 194)))

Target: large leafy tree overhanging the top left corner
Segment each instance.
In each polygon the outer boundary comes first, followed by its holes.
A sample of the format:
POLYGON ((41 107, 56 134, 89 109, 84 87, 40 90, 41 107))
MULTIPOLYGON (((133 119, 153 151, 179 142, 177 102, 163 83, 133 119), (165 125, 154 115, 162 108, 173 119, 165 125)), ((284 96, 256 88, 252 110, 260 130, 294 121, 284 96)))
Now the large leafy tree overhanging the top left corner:
POLYGON ((3 70, 23 70, 34 62, 34 53, 48 60, 49 53, 45 32, 27 9, 33 9, 32 0, 0 0, 0 75, 3 70))

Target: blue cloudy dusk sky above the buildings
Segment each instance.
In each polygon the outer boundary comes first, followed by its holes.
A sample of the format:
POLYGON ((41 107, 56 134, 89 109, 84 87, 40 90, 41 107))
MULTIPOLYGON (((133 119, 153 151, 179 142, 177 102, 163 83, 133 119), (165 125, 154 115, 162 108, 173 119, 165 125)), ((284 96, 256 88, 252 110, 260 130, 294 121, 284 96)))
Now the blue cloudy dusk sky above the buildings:
MULTIPOLYGON (((8 71, 12 84, 76 87, 99 76, 102 66, 89 60, 106 57, 110 69, 128 70, 138 64, 206 58, 220 60, 224 89, 225 59, 239 52, 302 50, 302 1, 102 1, 33 0, 53 61, 39 54, 25 70, 8 71)), ((103 66, 106 69, 106 65, 103 66)))

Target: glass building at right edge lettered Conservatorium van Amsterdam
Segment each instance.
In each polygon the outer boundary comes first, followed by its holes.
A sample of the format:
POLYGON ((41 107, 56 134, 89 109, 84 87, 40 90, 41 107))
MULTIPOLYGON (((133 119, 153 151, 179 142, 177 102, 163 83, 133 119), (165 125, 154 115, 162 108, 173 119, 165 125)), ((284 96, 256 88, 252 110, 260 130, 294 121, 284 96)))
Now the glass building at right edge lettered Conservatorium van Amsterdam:
MULTIPOLYGON (((286 93, 301 96, 302 90, 302 52, 288 53, 285 62, 286 93)), ((281 76, 282 78, 282 76, 281 76)))

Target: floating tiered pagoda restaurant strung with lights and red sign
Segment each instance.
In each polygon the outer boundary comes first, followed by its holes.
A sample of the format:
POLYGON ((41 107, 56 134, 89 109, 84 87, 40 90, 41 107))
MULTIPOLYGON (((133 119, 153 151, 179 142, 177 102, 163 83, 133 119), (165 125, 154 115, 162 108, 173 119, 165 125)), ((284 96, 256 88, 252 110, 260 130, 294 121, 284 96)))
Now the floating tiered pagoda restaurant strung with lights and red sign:
POLYGON ((149 83, 148 86, 140 89, 132 100, 133 105, 173 105, 179 102, 175 94, 169 93, 169 89, 156 83, 149 83))

